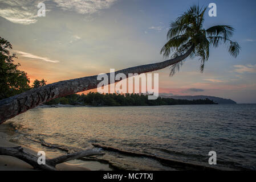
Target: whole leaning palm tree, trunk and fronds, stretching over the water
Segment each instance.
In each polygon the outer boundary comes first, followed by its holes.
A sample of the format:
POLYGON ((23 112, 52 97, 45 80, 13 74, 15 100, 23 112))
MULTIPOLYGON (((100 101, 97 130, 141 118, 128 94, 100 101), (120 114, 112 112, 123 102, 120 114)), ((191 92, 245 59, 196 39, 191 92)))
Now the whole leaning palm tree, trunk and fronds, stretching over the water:
MULTIPOLYGON (((199 6, 191 6, 176 21, 170 24, 170 30, 167 34, 168 42, 162 47, 161 53, 166 57, 171 57, 171 59, 160 63, 122 69, 115 72, 115 74, 124 73, 128 77, 128 73, 138 73, 140 75, 141 73, 171 66, 170 76, 173 76, 189 56, 198 57, 201 60, 201 71, 203 71, 205 61, 209 58, 210 47, 218 47, 220 43, 227 44, 229 46, 228 51, 236 57, 240 47, 237 42, 230 40, 234 29, 227 25, 205 29, 203 26, 205 11, 206 8, 200 9, 199 6)), ((99 82, 97 76, 76 78, 55 82, 6 98, 0 101, 0 123, 54 98, 97 88, 99 82)))

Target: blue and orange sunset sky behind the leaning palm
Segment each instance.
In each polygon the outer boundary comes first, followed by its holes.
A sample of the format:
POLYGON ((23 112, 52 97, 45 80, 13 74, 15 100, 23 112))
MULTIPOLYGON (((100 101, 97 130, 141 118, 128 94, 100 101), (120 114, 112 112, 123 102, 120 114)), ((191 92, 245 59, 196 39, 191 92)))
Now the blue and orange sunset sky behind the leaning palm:
POLYGON ((0 36, 31 83, 107 73, 163 61, 160 49, 169 24, 193 3, 216 3, 217 16, 205 14, 204 27, 228 24, 232 40, 241 46, 236 59, 226 46, 210 49, 204 73, 200 61, 187 59, 181 71, 169 77, 159 73, 159 92, 169 95, 207 95, 256 103, 256 1, 164 0, 0 0, 0 36), (38 3, 46 16, 38 17, 38 3))

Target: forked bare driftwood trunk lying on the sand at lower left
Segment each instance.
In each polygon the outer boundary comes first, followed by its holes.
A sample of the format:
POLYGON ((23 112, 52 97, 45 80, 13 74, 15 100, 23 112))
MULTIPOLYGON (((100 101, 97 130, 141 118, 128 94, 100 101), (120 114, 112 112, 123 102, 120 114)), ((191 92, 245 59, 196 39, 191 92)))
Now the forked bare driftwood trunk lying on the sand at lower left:
POLYGON ((0 155, 8 155, 13 156, 14 158, 18 158, 23 160, 24 162, 30 164, 34 169, 44 170, 44 171, 56 171, 56 165, 60 163, 64 163, 70 160, 83 158, 86 156, 93 155, 104 155, 103 152, 99 150, 83 150, 79 152, 73 152, 71 154, 62 155, 53 159, 46 159, 46 164, 38 163, 38 156, 34 156, 29 152, 23 150, 21 146, 18 147, 0 147, 0 155))

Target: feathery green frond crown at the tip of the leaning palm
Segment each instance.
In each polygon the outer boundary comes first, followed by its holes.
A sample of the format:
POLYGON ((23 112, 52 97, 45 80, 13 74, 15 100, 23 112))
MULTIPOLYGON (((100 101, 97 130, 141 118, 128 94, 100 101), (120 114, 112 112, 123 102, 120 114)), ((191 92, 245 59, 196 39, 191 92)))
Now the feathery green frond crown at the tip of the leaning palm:
MULTIPOLYGON (((217 25, 205 30, 203 27, 204 14, 206 7, 203 9, 199 6, 191 6, 185 13, 178 17, 170 24, 167 34, 168 42, 162 47, 161 52, 165 57, 178 57, 190 48, 193 49, 190 57, 199 57, 201 60, 200 71, 204 71, 205 61, 209 58, 209 48, 218 47, 220 43, 227 44, 229 53, 237 57, 241 47, 237 42, 230 40, 234 28, 227 25, 217 25)), ((170 67, 170 76, 176 71, 180 71, 184 60, 173 64, 170 67)))

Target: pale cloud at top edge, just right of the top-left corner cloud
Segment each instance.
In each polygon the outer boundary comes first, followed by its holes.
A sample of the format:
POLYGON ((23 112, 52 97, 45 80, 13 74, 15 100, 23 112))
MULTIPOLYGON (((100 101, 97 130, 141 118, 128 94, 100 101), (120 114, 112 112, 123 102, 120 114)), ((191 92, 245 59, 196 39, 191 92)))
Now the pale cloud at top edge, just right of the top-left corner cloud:
POLYGON ((117 0, 53 0, 63 10, 76 11, 79 14, 93 14, 108 9, 117 0))

